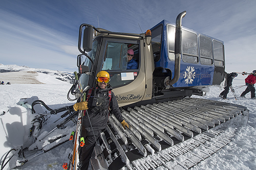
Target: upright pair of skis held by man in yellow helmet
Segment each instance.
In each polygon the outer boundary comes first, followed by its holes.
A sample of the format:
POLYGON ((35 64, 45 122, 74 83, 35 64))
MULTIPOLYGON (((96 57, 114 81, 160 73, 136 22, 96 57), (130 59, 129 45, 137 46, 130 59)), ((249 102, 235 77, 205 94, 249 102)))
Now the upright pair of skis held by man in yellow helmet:
MULTIPOLYGON (((86 101, 86 91, 89 89, 89 86, 86 88, 82 89, 81 83, 78 80, 78 75, 77 72, 74 72, 76 81, 78 82, 78 88, 80 91, 80 99, 81 101, 86 101)), ((76 170, 80 169, 80 161, 79 161, 79 145, 80 145, 80 134, 82 130, 82 117, 83 117, 84 111, 79 110, 78 112, 78 118, 77 118, 77 125, 76 125, 76 131, 72 132, 70 136, 70 140, 74 140, 74 145, 73 145, 73 151, 72 155, 69 154, 69 164, 68 163, 63 163, 62 167, 64 169, 71 169, 71 170, 76 170)), ((83 141, 84 143, 84 141, 83 141)))

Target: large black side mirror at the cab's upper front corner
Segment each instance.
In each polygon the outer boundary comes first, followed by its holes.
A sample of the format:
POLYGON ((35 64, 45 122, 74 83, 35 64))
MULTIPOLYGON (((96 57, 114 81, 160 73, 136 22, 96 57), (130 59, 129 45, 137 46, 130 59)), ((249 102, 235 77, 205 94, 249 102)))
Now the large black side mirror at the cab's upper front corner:
POLYGON ((83 31, 83 50, 86 52, 90 52, 93 47, 93 27, 87 27, 83 31))

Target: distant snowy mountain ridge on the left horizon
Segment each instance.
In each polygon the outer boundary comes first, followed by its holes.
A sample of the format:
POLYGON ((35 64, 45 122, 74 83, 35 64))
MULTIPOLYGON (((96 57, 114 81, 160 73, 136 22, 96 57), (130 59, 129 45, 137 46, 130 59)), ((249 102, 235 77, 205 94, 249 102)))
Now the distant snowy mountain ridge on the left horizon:
POLYGON ((0 72, 14 72, 14 71, 35 71, 40 72, 46 75, 50 75, 55 77, 55 79, 73 83, 75 76, 73 72, 68 71, 57 71, 57 70, 50 70, 50 69, 43 69, 43 68, 30 68, 28 66, 18 66, 18 65, 4 65, 0 64, 0 72))

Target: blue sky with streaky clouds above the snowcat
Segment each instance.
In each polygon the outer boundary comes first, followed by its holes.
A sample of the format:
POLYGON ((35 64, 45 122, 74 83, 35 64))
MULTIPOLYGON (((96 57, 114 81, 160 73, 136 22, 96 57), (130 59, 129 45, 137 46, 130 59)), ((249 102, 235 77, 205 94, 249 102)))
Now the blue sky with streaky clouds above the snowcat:
POLYGON ((187 11, 184 27, 224 41, 227 72, 250 72, 256 69, 255 7, 253 0, 1 0, 0 63, 75 71, 81 23, 141 33, 139 25, 145 32, 187 11))

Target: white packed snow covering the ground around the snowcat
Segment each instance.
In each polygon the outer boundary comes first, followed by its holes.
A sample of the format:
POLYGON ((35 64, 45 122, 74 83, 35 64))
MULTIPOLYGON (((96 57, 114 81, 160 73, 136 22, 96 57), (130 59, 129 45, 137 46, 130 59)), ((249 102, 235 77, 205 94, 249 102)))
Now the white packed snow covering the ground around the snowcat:
MULTIPOLYGON (((12 73, 14 74, 15 72, 12 73)), ((4 126, 2 122, 3 116, 7 117, 7 119, 8 116, 11 117, 10 112, 7 112, 11 108, 19 108, 20 110, 22 110, 21 114, 25 114, 27 109, 23 106, 17 105, 17 103, 20 104, 20 99, 24 100, 24 98, 31 98, 32 96, 37 96, 39 100, 44 101, 52 109, 60 108, 63 106, 70 106, 74 104, 74 102, 70 102, 67 99, 67 93, 72 84, 59 80, 56 81, 56 79, 52 79, 50 75, 38 73, 37 75, 35 75, 35 78, 33 80, 44 84, 33 84, 31 82, 26 82, 28 84, 25 84, 24 81, 23 84, 12 83, 11 85, 0 85, 0 92, 2 96, 2 98, 0 98, 0 114, 2 114, 3 111, 6 112, 5 115, 0 115, 0 126, 4 126)), ((246 88, 246 86, 243 85, 244 84, 233 84, 233 87, 236 89, 236 94, 238 96, 246 88)), ((192 97, 246 106, 250 110, 248 124, 246 126, 233 127, 236 128, 237 135, 233 138, 231 142, 229 142, 223 149, 221 149, 217 153, 211 155, 210 157, 190 169, 256 169, 256 145, 254 144, 256 142, 256 100, 250 99, 250 93, 246 95, 246 98, 238 98, 238 100, 235 100, 231 91, 227 95, 228 100, 222 100, 218 97, 222 90, 223 89, 220 89, 219 87, 212 86, 210 87, 210 91, 206 94, 206 96, 193 95, 192 97)), ((23 100, 21 100, 21 102, 23 100)), ((44 109, 44 107, 42 108, 44 109)), ((61 121, 59 120, 58 122, 54 123, 55 120, 57 120, 59 116, 63 113, 64 112, 58 113, 56 115, 51 115, 47 120, 48 124, 41 129, 40 133, 48 133, 53 130, 56 125, 61 121)), ((18 118, 20 119, 20 117, 18 118)), ((14 122, 15 120, 9 119, 9 124, 12 124, 14 122)), ((23 122, 25 121, 23 120, 23 122)), ((27 125, 29 125, 28 122, 29 121, 27 121, 27 125)), ((57 136, 60 132, 69 133, 69 131, 72 131, 73 126, 74 124, 70 122, 67 124, 68 128, 66 128, 69 130, 65 129, 61 131, 58 129, 56 132, 53 131, 49 136, 57 136)), ((12 133, 14 134, 12 135, 13 140, 20 138, 20 135, 18 137, 18 134, 15 130, 13 130, 12 133), (15 138, 15 135, 17 135, 17 138, 15 138)), ((4 139, 8 137, 5 132, 1 132, 1 134, 3 135, 2 138, 4 139)), ((22 135, 25 134, 26 133, 24 132, 24 134, 22 135)), ((2 155, 5 154, 2 147, 4 146, 1 146, 1 161, 4 157, 2 155)), ((10 146, 7 145, 7 147, 10 146)), ((70 153, 72 147, 72 142, 68 141, 60 145, 59 147, 50 150, 49 152, 42 153, 36 156, 32 160, 25 163, 23 166, 20 166, 18 169, 63 169, 62 164, 68 162, 68 153, 70 153)), ((36 153, 38 152, 32 151, 31 154, 36 153)), ((11 163, 13 162, 10 162, 10 164, 11 163)), ((157 169, 162 170, 166 168, 158 167, 157 169)))

